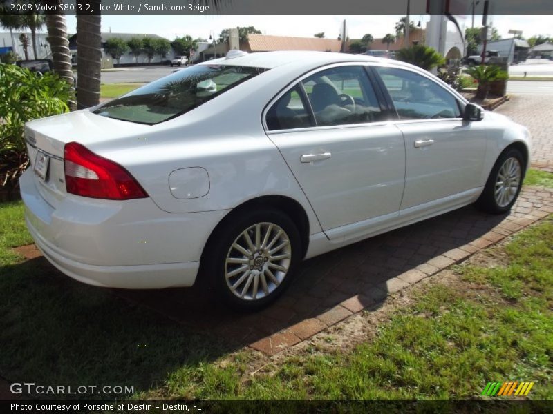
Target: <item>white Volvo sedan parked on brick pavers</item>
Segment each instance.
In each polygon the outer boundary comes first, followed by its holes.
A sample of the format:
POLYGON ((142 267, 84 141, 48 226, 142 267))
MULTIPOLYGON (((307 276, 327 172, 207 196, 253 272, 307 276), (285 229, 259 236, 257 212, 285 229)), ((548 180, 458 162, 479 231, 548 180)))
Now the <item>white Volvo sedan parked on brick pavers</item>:
POLYGON ((429 72, 362 55, 235 52, 26 124, 26 221, 81 282, 191 286, 234 306, 302 259, 475 203, 505 213, 528 130, 429 72))

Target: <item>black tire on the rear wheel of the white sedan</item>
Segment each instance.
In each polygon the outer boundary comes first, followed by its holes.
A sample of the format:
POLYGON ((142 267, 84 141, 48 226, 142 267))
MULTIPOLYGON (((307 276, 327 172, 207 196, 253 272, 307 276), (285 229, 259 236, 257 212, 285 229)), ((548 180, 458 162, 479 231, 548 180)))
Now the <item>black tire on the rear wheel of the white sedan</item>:
MULTIPOLYGON (((252 232, 253 231, 254 230, 252 230, 252 232)), ((277 228, 275 227, 274 230, 269 230, 268 233, 268 237, 272 239, 277 235, 277 228)), ((252 237, 254 236, 254 233, 250 234, 252 237)), ((256 243, 254 239, 252 239, 252 242, 254 242, 254 244, 256 243)), ((279 243, 281 243, 281 239, 279 239, 279 241, 275 243, 272 248, 279 243)), ((269 244, 269 242, 267 244, 269 244)), ((288 215, 285 215, 280 210, 273 208, 260 208, 255 211, 244 211, 228 217, 223 227, 218 229, 208 246, 205 248, 207 250, 205 250, 203 255, 203 277, 209 277, 212 279, 212 284, 215 286, 221 299, 223 299, 232 308, 241 311, 256 311, 274 302, 274 300, 277 299, 286 288, 288 288, 290 281, 294 276, 294 271, 299 262, 301 262, 302 251, 301 238, 294 222, 290 219, 290 217, 288 217, 288 215), (288 266, 288 271, 285 272, 284 275, 283 272, 274 270, 274 268, 270 267, 273 265, 270 260, 265 261, 264 263, 259 260, 259 262, 261 262, 261 264, 259 264, 259 266, 262 266, 261 268, 253 268, 253 259, 248 264, 227 264, 227 257, 247 259, 245 255, 239 253, 238 250, 232 248, 232 246, 235 242, 238 242, 238 244, 241 245, 245 244, 243 232, 252 226, 256 226, 257 224, 265 226, 265 230, 270 229, 268 224, 278 226, 281 230, 283 230, 285 236, 288 237, 291 257, 289 259, 282 259, 278 263, 274 263, 277 264, 277 266, 288 266), (287 260, 288 262, 286 262, 287 260), (243 270, 243 272, 227 279, 227 272, 232 273, 233 270, 244 268, 243 266, 245 266, 245 270, 243 270), (271 274, 279 279, 279 284, 275 284, 271 281, 268 273, 265 273, 266 270, 259 272, 259 269, 265 268, 269 268, 271 274), (249 273, 248 270, 250 270, 249 273), (261 275, 261 273, 263 273, 263 275, 261 275), (245 274, 247 275, 244 276, 245 274), (252 277, 250 277, 250 275, 252 275, 252 277), (233 293, 231 288, 231 285, 238 283, 238 279, 241 277, 243 278, 243 282, 237 285, 236 290, 243 289, 245 285, 248 284, 248 279, 250 279, 250 286, 252 289, 252 293, 250 294, 250 287, 246 287, 247 292, 245 298, 238 297, 238 293, 233 293), (261 281, 262 278, 265 281, 268 294, 261 292, 261 290, 263 290, 263 282, 261 281), (229 282, 227 282, 227 280, 229 282), (263 297, 256 297, 254 299, 253 289, 256 283, 256 286, 258 286, 260 290, 258 294, 263 295, 263 297)), ((247 249, 248 252, 250 250, 251 248, 247 249)), ((277 255, 274 255, 274 257, 281 255, 281 253, 286 253, 286 250, 278 250, 277 255)), ((255 259, 259 259, 260 257, 261 259, 264 259, 265 254, 268 254, 268 251, 265 251, 263 255, 258 255, 258 253, 255 254, 255 259)))

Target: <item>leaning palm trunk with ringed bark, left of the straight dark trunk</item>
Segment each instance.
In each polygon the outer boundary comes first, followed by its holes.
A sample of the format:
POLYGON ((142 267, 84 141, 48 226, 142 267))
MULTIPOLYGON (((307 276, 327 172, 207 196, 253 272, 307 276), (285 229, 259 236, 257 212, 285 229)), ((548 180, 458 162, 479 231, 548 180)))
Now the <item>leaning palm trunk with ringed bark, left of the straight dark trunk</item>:
MULTIPOLYGON (((49 3, 59 6, 60 0, 50 0, 49 3)), ((59 8, 58 8, 59 10, 59 8)), ((64 12, 57 11, 56 14, 46 16, 46 28, 48 29, 48 43, 52 50, 52 63, 54 72, 64 81, 69 83, 75 90, 75 79, 71 70, 71 50, 69 50, 69 41, 67 39, 67 23, 64 12)), ((71 110, 77 109, 75 99, 68 102, 71 110)))

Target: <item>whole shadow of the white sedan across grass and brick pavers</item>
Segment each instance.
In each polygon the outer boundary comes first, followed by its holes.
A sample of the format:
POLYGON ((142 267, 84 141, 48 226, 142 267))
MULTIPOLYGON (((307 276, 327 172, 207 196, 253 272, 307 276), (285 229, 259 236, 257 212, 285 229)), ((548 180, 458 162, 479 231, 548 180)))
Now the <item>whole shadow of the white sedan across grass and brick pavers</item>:
POLYGON ((201 284, 108 290, 73 281, 44 257, 3 266, 0 376, 45 385, 91 385, 93 379, 147 391, 162 386, 167 375, 186 377, 203 362, 303 321, 331 325, 351 314, 339 304, 355 295, 375 310, 390 279, 429 266, 433 257, 478 239, 503 219, 469 206, 315 257, 301 265, 276 303, 250 314, 229 310, 201 284))

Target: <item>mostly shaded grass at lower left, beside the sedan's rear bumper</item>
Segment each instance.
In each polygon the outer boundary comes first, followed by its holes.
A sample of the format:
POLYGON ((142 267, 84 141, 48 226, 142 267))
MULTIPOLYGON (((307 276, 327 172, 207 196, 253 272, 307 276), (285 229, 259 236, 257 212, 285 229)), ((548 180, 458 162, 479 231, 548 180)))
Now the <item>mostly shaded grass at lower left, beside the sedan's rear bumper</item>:
POLYGON ((188 332, 109 290, 73 281, 43 258, 24 261, 11 250, 30 242, 21 201, 0 204, 1 377, 134 386, 140 396, 162 386, 168 373, 227 352, 216 338, 188 332))

